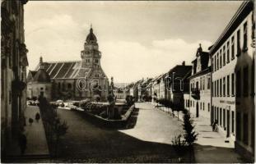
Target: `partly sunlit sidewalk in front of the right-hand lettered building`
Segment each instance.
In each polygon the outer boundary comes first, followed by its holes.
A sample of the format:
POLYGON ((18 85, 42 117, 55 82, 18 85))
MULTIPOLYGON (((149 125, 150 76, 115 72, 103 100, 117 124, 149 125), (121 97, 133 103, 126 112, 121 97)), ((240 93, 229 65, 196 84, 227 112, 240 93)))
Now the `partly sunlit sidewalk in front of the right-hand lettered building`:
POLYGON ((193 117, 193 120, 198 132, 198 141, 194 144, 196 162, 244 162, 240 155, 235 153, 234 144, 225 143, 225 138, 221 134, 212 131, 208 118, 193 117))

